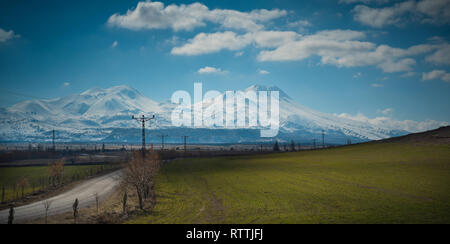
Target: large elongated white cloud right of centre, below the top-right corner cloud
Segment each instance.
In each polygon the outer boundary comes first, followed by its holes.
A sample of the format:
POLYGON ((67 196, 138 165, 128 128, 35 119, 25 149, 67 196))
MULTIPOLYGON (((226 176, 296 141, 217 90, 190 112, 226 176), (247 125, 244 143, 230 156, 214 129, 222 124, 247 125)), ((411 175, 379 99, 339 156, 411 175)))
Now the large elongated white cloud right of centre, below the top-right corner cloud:
POLYGON ((423 44, 407 49, 365 42, 365 33, 352 30, 321 31, 287 42, 275 50, 261 51, 259 61, 295 61, 319 56, 322 64, 338 67, 377 66, 384 72, 411 71, 416 61, 412 56, 435 50, 438 46, 423 44))

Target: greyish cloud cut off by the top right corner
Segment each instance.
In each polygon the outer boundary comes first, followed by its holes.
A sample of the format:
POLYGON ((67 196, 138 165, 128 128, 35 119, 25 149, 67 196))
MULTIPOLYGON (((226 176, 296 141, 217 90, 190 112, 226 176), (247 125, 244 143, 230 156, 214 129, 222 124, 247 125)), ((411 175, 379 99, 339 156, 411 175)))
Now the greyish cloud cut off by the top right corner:
POLYGON ((408 0, 383 8, 358 5, 352 12, 356 21, 377 28, 417 21, 449 24, 450 0, 408 0))

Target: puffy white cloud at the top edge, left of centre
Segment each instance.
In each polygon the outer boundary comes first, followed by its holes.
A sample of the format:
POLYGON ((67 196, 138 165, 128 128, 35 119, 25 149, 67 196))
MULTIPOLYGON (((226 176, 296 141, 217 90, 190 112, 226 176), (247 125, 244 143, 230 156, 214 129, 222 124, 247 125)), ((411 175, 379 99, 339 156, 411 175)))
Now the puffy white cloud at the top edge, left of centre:
POLYGON ((170 28, 174 31, 189 31, 210 22, 224 28, 255 31, 263 29, 265 22, 285 15, 287 12, 279 9, 240 12, 230 9, 210 10, 201 3, 164 6, 162 2, 146 1, 139 2, 135 9, 128 10, 124 15, 112 15, 108 24, 132 30, 170 28))

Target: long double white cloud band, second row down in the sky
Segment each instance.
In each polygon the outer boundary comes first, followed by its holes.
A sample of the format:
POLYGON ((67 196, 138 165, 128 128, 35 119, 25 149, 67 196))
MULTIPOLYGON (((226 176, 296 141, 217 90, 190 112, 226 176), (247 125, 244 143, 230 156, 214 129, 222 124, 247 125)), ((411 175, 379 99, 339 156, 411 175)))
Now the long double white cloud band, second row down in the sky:
POLYGON ((326 30, 306 36, 292 31, 257 31, 241 35, 232 31, 200 33, 184 45, 174 47, 171 53, 201 55, 222 50, 237 51, 253 44, 263 49, 257 57, 261 62, 301 61, 318 56, 322 64, 337 67, 376 66, 384 72, 394 73, 411 72, 416 64, 414 56, 442 47, 442 44, 429 43, 406 49, 394 48, 377 46, 364 41, 365 38, 364 32, 352 30, 326 30))

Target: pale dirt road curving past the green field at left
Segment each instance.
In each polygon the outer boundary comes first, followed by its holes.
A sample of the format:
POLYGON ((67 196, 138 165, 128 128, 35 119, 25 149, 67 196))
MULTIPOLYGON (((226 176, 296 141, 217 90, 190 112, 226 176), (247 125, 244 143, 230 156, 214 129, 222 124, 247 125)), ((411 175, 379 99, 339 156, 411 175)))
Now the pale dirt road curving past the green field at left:
MULTIPOLYGON (((90 179, 72 190, 49 198, 51 202, 48 215, 56 215, 72 211, 72 205, 78 198, 79 208, 86 208, 95 204, 95 194, 102 200, 119 186, 121 171, 115 171, 104 176, 90 179)), ((15 208, 14 223, 45 217, 44 201, 15 208)), ((0 211, 0 224, 8 222, 9 210, 0 211)))

